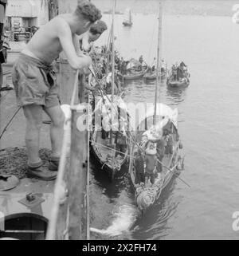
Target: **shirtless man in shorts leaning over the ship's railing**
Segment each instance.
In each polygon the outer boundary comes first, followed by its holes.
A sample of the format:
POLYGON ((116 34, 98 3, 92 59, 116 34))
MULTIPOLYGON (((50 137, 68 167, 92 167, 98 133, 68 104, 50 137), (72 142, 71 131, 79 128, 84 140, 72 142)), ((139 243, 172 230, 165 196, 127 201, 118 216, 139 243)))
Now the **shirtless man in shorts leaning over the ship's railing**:
POLYGON ((59 53, 64 51, 73 69, 88 69, 92 61, 82 53, 77 55, 76 47, 80 47, 77 36, 89 30, 100 18, 100 10, 91 2, 78 2, 72 14, 58 15, 45 26, 41 26, 14 65, 15 92, 26 118, 25 145, 29 177, 44 180, 57 177, 65 116, 59 104, 59 88, 51 64, 59 53), (52 123, 49 170, 43 167, 38 154, 43 110, 49 115, 52 123))

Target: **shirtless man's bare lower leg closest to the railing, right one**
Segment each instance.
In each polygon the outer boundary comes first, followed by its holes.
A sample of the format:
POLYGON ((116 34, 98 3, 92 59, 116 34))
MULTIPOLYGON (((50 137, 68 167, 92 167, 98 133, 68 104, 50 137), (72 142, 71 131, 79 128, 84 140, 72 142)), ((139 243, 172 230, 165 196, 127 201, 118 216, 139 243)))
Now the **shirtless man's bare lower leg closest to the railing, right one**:
POLYGON ((52 108, 44 108, 44 111, 49 115, 52 121, 50 128, 52 158, 60 158, 63 139, 63 126, 65 122, 64 112, 61 110, 60 105, 52 108))

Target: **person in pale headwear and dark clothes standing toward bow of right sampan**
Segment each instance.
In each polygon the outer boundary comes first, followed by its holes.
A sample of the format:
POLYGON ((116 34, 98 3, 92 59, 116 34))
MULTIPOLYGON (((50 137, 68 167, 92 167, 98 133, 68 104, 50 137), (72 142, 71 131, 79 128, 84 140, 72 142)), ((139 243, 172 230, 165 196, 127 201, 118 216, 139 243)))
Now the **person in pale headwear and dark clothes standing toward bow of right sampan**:
POLYGON ((145 154, 145 184, 147 185, 150 180, 151 185, 153 185, 155 183, 155 174, 158 166, 156 144, 148 141, 145 154))

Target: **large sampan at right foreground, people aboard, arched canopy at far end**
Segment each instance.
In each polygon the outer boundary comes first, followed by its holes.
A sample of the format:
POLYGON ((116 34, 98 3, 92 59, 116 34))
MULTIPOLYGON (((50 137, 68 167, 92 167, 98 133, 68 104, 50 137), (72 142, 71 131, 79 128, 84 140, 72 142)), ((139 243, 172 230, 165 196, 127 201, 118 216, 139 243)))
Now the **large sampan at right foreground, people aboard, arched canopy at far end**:
POLYGON ((157 104, 157 113, 155 125, 154 108, 149 109, 145 118, 142 118, 130 148, 129 175, 135 190, 135 201, 141 211, 146 211, 159 199, 163 189, 182 165, 182 158, 178 154, 178 150, 182 148, 178 136, 178 109, 157 104), (153 184, 145 182, 144 177, 147 163, 152 159, 155 163, 158 162, 155 165, 153 184))

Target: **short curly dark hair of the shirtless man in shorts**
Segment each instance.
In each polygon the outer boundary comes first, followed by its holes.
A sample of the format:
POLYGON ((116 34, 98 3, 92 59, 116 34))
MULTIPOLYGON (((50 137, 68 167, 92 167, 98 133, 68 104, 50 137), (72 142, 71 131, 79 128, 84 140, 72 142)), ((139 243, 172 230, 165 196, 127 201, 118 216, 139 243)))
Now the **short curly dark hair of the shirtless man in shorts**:
POLYGON ((100 20, 102 17, 100 10, 91 2, 85 0, 78 0, 75 13, 81 14, 85 19, 88 19, 92 23, 100 20))

